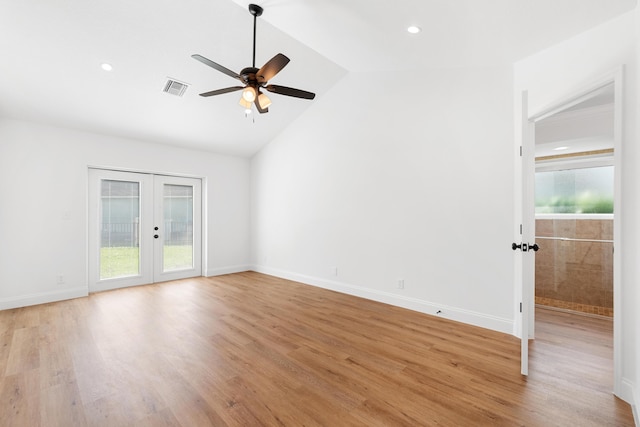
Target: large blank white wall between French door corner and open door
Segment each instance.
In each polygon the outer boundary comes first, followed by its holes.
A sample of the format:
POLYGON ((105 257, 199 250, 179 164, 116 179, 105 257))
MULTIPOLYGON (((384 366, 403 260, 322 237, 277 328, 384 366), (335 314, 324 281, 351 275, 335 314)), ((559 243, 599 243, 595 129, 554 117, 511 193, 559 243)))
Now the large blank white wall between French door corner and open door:
POLYGON ((512 333, 512 90, 347 75, 253 158, 255 269, 512 333))

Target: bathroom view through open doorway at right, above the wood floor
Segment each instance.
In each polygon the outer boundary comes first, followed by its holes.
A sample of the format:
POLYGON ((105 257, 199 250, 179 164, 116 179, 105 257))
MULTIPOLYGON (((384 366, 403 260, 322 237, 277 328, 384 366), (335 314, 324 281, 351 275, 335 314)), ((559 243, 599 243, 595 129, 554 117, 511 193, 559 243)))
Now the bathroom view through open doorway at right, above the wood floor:
POLYGON ((613 83, 535 124, 535 302, 613 317, 613 83))

